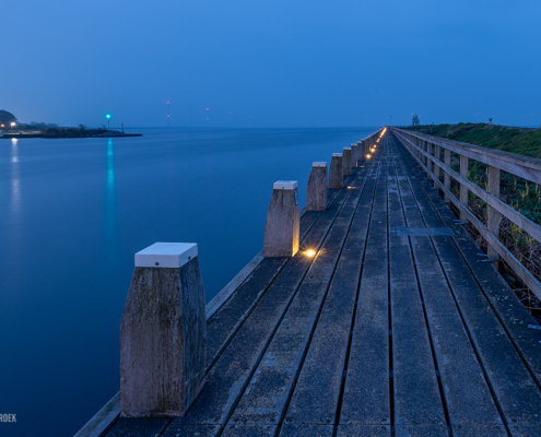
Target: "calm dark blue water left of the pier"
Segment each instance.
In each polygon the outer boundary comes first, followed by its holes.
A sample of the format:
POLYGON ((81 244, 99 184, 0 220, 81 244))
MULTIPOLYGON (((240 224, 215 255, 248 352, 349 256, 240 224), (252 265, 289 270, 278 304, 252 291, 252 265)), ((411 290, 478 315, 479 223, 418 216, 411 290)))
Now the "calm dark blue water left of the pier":
POLYGON ((375 129, 0 140, 1 436, 72 436, 119 389, 133 253, 199 244, 207 302, 262 248, 272 182, 375 129))

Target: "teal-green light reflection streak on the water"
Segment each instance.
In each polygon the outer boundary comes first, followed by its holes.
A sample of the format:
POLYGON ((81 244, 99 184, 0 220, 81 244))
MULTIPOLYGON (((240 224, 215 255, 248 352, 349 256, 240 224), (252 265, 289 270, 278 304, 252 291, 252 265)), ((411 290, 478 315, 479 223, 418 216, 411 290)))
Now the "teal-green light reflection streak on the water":
POLYGON ((117 204, 117 187, 115 178, 115 147, 113 139, 107 141, 105 156, 105 199, 104 199, 104 245, 105 258, 108 264, 115 260, 117 252, 117 235, 118 235, 118 204, 117 204))

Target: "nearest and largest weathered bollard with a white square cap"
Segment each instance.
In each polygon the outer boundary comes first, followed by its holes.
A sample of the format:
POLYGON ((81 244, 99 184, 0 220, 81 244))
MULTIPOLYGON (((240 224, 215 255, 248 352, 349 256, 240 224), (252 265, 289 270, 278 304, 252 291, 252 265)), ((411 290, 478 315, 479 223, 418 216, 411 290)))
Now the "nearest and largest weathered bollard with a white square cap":
POLYGON ((197 245, 136 253, 120 323, 124 417, 181 416, 204 379, 207 318, 197 245))

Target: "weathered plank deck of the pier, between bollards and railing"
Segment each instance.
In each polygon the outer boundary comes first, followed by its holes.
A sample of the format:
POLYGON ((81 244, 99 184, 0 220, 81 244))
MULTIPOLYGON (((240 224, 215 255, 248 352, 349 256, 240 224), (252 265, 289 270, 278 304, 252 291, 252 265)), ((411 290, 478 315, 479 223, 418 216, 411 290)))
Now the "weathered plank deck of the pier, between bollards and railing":
POLYGON ((210 317, 187 414, 107 437, 541 435, 538 323, 391 134, 358 164, 210 317))

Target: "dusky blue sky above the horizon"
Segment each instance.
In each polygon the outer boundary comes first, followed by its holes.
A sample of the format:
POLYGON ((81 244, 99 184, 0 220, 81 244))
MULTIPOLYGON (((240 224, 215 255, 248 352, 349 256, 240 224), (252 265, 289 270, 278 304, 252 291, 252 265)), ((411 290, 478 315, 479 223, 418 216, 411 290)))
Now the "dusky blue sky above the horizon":
POLYGON ((169 101, 172 126, 541 123, 539 0, 17 0, 2 15, 0 109, 21 121, 163 127, 169 101))

